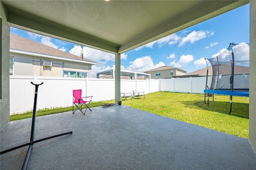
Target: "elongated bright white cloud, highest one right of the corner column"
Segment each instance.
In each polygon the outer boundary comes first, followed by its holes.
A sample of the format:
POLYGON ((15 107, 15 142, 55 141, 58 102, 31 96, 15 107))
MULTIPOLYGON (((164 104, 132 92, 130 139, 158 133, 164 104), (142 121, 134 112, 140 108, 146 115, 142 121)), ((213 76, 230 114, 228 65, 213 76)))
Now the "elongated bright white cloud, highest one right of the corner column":
POLYGON ((199 31, 192 31, 187 36, 183 37, 179 43, 179 47, 184 45, 186 42, 194 43, 198 40, 202 40, 206 38, 207 36, 214 35, 214 32, 209 30, 199 30, 199 31))

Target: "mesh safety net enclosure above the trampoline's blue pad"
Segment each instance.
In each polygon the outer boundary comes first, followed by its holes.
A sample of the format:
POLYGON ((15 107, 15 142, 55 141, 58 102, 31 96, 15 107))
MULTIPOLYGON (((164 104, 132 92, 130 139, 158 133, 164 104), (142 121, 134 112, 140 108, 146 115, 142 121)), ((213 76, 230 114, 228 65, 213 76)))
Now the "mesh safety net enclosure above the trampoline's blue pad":
POLYGON ((218 56, 207 59, 212 65, 211 90, 249 90, 249 43, 230 43, 218 56))

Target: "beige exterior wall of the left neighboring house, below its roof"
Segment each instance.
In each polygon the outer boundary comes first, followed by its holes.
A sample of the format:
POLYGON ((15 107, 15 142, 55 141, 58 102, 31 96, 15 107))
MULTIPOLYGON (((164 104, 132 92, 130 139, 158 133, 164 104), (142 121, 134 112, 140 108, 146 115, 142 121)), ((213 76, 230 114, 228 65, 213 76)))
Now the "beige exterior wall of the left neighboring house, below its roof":
POLYGON ((85 63, 58 61, 37 56, 30 56, 19 53, 10 53, 13 57, 13 75, 38 75, 48 77, 63 77, 63 71, 86 72, 91 77, 91 66, 85 63), (44 61, 51 61, 52 67, 44 66, 44 61))

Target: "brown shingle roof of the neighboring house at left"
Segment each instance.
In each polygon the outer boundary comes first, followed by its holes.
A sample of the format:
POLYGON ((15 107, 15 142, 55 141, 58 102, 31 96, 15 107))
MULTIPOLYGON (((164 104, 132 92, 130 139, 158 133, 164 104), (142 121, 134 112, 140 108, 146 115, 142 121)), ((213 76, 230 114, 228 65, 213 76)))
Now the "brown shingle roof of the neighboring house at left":
MULTIPOLYGON (((82 59, 81 57, 78 57, 71 53, 67 53, 60 49, 56 49, 48 45, 44 45, 42 43, 28 40, 26 38, 17 36, 15 34, 10 34, 10 52, 23 53, 22 51, 28 51, 28 52, 37 53, 37 54, 44 54, 43 57, 48 57, 48 58, 54 58, 55 56, 55 57, 58 57, 58 59, 64 59, 64 60, 72 59, 72 61, 88 63, 92 65, 96 64, 96 62, 91 61, 89 59, 85 59, 85 58, 82 59), (48 56, 45 56, 45 55, 48 55, 48 56)), ((30 55, 33 55, 32 53, 30 53, 30 55)), ((27 54, 29 55, 29 53, 27 54)))

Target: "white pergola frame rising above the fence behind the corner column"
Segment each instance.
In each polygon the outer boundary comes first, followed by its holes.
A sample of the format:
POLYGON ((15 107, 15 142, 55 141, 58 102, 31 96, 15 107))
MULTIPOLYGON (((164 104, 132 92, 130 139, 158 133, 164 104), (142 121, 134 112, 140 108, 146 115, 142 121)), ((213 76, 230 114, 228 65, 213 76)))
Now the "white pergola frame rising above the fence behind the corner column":
MULTIPOLYGON (((110 69, 110 70, 98 72, 98 73, 96 73, 96 75, 97 75, 97 78, 100 78, 100 75, 111 75, 112 79, 114 79, 115 73, 116 73, 115 69, 110 69)), ((147 76, 148 79, 150 79, 150 77, 151 77, 151 75, 147 74, 147 73, 139 73, 139 72, 135 72, 135 71, 125 71, 125 70, 120 70, 120 76, 131 77, 131 79, 132 79, 132 77, 134 77, 134 80, 137 79, 137 76, 147 76)))

